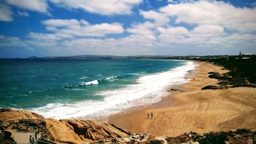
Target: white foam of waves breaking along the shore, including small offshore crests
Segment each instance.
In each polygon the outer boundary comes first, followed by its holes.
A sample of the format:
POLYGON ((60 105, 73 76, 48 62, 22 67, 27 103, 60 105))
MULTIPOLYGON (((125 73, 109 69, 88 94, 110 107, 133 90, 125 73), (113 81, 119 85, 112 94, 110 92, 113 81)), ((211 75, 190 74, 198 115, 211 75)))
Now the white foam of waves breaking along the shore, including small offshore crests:
MULTIPOLYGON (((192 61, 185 65, 176 67, 167 72, 160 72, 151 75, 143 75, 137 79, 136 84, 127 85, 118 90, 106 90, 96 95, 102 96, 101 101, 79 101, 70 104, 47 104, 44 107, 31 109, 45 117, 61 118, 82 118, 98 121, 106 121, 106 116, 116 114, 120 111, 134 107, 142 107, 155 103, 167 96, 166 91, 171 85, 188 82, 184 77, 188 71, 195 69, 192 61)), ((109 77, 106 80, 111 80, 109 77)), ((84 82, 84 85, 99 84, 97 80, 84 82)))

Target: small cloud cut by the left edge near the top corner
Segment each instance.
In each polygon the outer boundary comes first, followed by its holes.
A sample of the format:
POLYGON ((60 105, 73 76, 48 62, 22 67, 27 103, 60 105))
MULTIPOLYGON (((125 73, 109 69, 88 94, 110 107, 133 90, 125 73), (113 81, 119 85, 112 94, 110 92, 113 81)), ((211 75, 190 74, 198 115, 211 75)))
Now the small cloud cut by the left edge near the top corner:
POLYGON ((0 3, 0 21, 13 21, 12 15, 11 8, 0 3))

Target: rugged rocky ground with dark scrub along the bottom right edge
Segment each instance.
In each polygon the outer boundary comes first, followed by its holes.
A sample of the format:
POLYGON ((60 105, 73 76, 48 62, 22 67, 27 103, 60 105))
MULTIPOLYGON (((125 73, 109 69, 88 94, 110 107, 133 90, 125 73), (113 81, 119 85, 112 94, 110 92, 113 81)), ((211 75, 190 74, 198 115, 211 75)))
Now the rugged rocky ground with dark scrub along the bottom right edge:
POLYGON ((133 134, 111 137, 90 144, 256 144, 256 131, 237 129, 229 132, 186 132, 178 136, 157 137, 150 134, 133 134))

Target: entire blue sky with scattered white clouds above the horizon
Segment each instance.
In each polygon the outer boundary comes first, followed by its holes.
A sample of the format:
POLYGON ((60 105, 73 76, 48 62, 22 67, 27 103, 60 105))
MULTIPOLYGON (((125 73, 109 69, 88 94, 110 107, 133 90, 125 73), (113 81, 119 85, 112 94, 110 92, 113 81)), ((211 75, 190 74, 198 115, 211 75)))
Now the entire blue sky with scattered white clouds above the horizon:
POLYGON ((0 0, 0 58, 256 54, 256 0, 0 0))

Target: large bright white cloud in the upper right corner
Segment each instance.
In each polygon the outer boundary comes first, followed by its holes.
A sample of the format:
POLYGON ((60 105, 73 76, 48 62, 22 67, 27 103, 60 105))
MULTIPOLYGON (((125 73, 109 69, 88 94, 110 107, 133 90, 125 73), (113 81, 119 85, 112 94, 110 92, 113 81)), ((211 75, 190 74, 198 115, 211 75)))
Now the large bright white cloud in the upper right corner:
POLYGON ((190 1, 169 4, 159 11, 174 18, 176 24, 209 24, 243 32, 256 31, 256 8, 236 8, 229 3, 215 0, 190 1))

